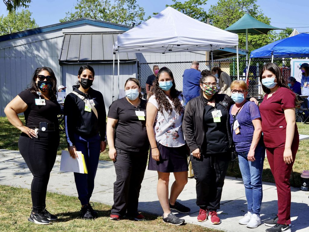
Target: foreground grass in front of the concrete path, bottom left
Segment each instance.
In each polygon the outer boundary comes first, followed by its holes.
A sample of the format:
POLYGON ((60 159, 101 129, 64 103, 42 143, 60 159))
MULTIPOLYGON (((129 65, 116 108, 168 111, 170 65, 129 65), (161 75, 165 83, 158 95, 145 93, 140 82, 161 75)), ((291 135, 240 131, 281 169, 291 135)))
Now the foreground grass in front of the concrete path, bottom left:
POLYGON ((112 221, 109 219, 111 206, 95 203, 95 210, 99 218, 95 220, 83 220, 79 218, 80 202, 77 197, 59 195, 48 192, 46 205, 49 212, 55 214, 58 220, 51 225, 36 225, 28 222, 31 212, 31 193, 28 189, 0 185, 0 228, 6 232, 41 232, 41 231, 165 231, 165 232, 214 232, 218 230, 202 226, 186 224, 172 226, 163 223, 162 218, 143 213, 145 221, 132 221, 123 219, 112 221))

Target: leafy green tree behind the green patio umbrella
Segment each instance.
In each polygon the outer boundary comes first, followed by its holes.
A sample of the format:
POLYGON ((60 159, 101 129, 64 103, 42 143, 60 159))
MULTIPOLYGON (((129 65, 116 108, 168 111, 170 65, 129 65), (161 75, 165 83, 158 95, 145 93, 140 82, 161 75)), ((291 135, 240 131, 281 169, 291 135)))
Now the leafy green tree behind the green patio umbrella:
MULTIPOLYGON (((209 9, 211 23, 218 28, 225 29, 234 24, 245 13, 250 14, 253 18, 265 23, 270 24, 270 18, 267 17, 259 10, 256 5, 256 0, 219 0, 216 5, 211 5, 209 9)), ((269 44, 276 40, 276 36, 271 34, 267 35, 248 35, 248 49, 252 51, 269 44)), ((239 48, 246 48, 246 35, 238 34, 239 48)))

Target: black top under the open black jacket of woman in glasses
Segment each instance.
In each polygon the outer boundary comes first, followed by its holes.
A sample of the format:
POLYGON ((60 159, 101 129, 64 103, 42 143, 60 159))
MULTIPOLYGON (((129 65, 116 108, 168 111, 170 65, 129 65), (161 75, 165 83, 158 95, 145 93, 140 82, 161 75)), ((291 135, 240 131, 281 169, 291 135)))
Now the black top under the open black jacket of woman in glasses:
POLYGON ((224 109, 224 106, 216 103, 216 107, 217 110, 221 110, 221 122, 214 122, 214 118, 211 112, 214 111, 215 108, 211 105, 205 105, 205 140, 203 144, 203 153, 227 152, 229 147, 229 139, 226 129, 226 121, 228 119, 228 115, 226 113, 226 109, 224 109))

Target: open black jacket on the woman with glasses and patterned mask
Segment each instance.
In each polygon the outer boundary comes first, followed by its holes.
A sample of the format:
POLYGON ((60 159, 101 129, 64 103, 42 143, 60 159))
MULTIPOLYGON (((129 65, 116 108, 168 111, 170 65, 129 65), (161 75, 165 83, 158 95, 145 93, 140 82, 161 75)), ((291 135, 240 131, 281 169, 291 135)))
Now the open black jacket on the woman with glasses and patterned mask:
MULTIPOLYGON (((226 110, 226 114, 229 115, 229 110, 234 101, 231 97, 226 94, 216 94, 215 102, 224 106, 226 110)), ((184 111, 184 120, 182 122, 182 129, 184 131, 184 137, 186 143, 190 148, 190 152, 193 152, 195 149, 199 148, 200 152, 202 148, 202 144, 205 140, 205 131, 204 131, 204 113, 205 113, 205 105, 207 103, 203 99, 203 95, 199 97, 191 99, 184 111)), ((229 138, 229 148, 231 147, 231 126, 229 119, 226 120, 226 131, 229 138)))

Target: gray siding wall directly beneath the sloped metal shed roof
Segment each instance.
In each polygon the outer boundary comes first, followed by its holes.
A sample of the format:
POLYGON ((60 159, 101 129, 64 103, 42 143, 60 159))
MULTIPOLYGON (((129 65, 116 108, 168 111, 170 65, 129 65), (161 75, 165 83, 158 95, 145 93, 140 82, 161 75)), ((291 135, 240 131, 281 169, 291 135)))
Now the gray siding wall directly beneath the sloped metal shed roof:
MULTIPOLYGON (((108 64, 90 64, 95 71, 95 79, 92 88, 100 91, 103 94, 105 109, 108 112, 109 106, 112 104, 112 96, 114 100, 117 99, 117 66, 115 64, 115 79, 114 79, 114 94, 112 93, 112 78, 113 78, 113 65, 108 64)), ((66 92, 72 92, 72 86, 78 81, 77 75, 80 64, 62 65, 62 77, 63 85, 67 87, 66 92)), ((119 69, 119 88, 124 89, 125 81, 130 78, 136 78, 137 76, 137 64, 135 63, 120 63, 119 69)))

